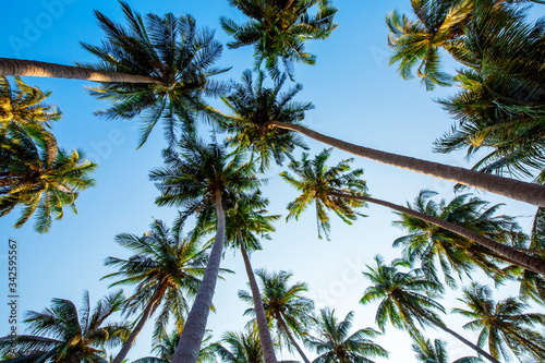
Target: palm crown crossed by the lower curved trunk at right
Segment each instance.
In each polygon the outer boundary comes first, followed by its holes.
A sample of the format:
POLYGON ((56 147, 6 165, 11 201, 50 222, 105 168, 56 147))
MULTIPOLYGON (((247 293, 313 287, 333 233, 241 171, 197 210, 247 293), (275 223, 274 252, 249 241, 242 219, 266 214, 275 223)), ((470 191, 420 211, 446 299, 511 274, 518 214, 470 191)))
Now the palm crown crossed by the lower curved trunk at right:
MULTIPOLYGON (((436 195, 436 192, 423 190, 408 207, 479 232, 500 243, 523 246, 528 241, 513 217, 497 215, 500 204, 489 206, 489 203, 469 194, 458 195, 448 203, 445 199, 437 203, 433 199, 436 195)), ((422 219, 403 213, 397 214, 401 219, 393 223, 410 234, 397 239, 393 246, 403 246, 403 258, 407 261, 420 261, 422 270, 428 278, 439 280, 438 266, 450 287, 457 285, 455 273, 460 279, 464 275, 470 277, 475 265, 491 275, 501 273, 489 257, 500 256, 488 249, 422 219)))

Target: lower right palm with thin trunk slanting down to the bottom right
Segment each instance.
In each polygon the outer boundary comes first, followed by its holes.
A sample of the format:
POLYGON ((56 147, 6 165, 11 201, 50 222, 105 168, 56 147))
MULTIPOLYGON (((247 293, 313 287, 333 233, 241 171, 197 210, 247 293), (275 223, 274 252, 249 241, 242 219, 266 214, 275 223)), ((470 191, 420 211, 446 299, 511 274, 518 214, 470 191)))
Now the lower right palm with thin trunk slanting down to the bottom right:
POLYGON ((399 271, 397 267, 403 263, 398 262, 387 266, 380 256, 376 256, 375 261, 377 267, 367 266, 367 271, 363 273, 373 285, 365 289, 360 302, 366 304, 377 300, 380 301, 375 322, 383 331, 388 322, 396 328, 409 330, 412 337, 420 336, 415 323, 423 327, 440 328, 488 361, 499 363, 486 351, 449 329, 443 323, 436 311, 445 313, 445 308, 434 300, 439 297, 439 293, 444 292, 444 288, 439 282, 429 280, 419 269, 409 273, 399 271))

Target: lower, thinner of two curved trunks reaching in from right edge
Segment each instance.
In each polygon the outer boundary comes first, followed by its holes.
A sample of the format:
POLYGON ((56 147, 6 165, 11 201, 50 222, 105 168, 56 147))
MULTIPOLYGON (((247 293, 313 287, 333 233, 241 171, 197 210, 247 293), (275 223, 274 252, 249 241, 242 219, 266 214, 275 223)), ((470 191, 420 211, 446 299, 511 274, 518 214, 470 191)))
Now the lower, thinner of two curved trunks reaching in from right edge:
MULTIPOLYGON (((502 243, 498 243, 494 240, 491 240, 477 232, 474 232, 472 230, 469 230, 467 228, 463 228, 461 226, 451 223, 447 220, 433 217, 429 215, 426 215, 424 213, 420 213, 410 208, 405 208, 402 206, 399 206, 393 203, 389 203, 386 201, 382 199, 375 199, 368 196, 359 196, 359 195, 350 195, 350 194, 344 194, 344 193, 331 193, 334 196, 338 197, 346 197, 346 198, 351 198, 351 199, 358 199, 358 201, 364 201, 364 202, 370 202, 374 204, 378 204, 388 208, 391 208, 393 210, 401 211, 405 215, 409 215, 414 218, 419 218, 420 220, 429 222, 434 226, 437 226, 439 228, 446 229, 448 231, 451 231, 453 233, 457 233, 461 237, 464 237, 482 246, 487 247, 488 250, 497 253, 500 256, 506 257, 506 262, 516 264, 517 266, 526 268, 529 270, 532 270, 536 274, 540 274, 542 276, 545 276, 545 261, 543 261, 540 257, 532 256, 529 253, 531 253, 531 250, 528 250, 528 253, 520 251, 520 249, 516 249, 502 243)), ((499 257, 499 256, 498 256, 499 257)))

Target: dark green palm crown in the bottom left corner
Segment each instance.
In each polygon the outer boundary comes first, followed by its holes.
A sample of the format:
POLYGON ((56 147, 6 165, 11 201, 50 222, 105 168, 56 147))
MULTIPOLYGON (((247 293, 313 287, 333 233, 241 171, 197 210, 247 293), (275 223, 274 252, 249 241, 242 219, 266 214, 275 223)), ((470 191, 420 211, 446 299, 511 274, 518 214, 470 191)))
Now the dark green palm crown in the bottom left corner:
POLYGON ((53 299, 44 312, 26 312, 23 320, 31 335, 0 338, 0 354, 15 347, 15 355, 3 362, 93 362, 105 363, 105 347, 120 344, 129 336, 126 323, 106 323, 121 310, 122 291, 100 299, 92 310, 89 294, 83 295, 80 311, 70 300, 53 299))

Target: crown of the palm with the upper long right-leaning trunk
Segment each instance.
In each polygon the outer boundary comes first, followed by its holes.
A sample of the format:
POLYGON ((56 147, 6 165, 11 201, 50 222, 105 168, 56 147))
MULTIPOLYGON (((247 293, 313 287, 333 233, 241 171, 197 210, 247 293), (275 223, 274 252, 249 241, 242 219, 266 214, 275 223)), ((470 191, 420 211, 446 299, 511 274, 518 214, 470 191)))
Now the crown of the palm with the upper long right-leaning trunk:
POLYGON ((274 87, 264 86, 265 74, 257 72, 252 80, 252 72, 244 71, 241 83, 232 83, 231 93, 221 99, 231 111, 231 116, 221 116, 222 128, 230 134, 228 140, 244 150, 257 155, 261 171, 275 160, 280 165, 286 155, 295 147, 307 148, 296 133, 270 126, 270 121, 300 124, 304 113, 313 109, 311 102, 296 102, 293 97, 302 89, 301 84, 281 93, 286 76, 275 81, 274 87))

